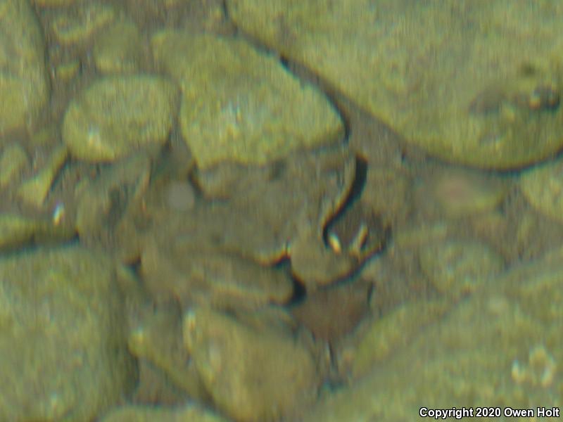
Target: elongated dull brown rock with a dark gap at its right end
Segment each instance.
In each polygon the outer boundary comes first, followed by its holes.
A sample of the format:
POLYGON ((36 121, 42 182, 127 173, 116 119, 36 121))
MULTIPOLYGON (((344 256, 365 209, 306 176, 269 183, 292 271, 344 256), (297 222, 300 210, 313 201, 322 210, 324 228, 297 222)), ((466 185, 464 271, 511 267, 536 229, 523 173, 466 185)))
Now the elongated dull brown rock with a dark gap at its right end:
POLYGON ((291 298, 293 283, 282 271, 192 242, 146 243, 141 271, 154 296, 172 296, 184 307, 198 303, 222 309, 255 309, 291 298))

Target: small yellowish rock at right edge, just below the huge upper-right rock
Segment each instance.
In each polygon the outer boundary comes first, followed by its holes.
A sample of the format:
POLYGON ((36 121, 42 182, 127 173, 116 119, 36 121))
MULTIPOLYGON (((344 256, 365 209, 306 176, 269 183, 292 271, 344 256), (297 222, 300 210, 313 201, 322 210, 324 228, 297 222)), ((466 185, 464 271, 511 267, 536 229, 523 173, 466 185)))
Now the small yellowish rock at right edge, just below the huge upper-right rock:
POLYGON ((520 190, 543 215, 563 222, 563 161, 533 167, 521 174, 520 190))

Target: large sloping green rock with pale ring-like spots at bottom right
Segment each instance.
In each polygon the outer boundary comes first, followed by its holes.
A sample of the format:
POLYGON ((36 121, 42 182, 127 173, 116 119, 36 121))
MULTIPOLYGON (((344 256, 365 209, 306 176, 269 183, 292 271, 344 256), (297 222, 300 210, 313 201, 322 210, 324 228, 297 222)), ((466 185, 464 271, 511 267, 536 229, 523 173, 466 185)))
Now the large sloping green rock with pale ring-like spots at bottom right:
POLYGON ((483 403, 501 411, 559 406, 562 291, 560 252, 499 276, 304 421, 415 421, 421 407, 483 403))

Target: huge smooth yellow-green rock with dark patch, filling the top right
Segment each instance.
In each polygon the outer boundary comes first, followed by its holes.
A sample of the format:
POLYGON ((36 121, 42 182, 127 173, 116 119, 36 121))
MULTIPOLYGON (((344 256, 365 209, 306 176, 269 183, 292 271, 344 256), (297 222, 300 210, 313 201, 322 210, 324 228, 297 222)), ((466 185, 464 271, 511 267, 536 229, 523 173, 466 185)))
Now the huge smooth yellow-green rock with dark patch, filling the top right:
POLYGON ((557 0, 228 0, 229 16, 407 141, 506 169, 563 146, 557 0))

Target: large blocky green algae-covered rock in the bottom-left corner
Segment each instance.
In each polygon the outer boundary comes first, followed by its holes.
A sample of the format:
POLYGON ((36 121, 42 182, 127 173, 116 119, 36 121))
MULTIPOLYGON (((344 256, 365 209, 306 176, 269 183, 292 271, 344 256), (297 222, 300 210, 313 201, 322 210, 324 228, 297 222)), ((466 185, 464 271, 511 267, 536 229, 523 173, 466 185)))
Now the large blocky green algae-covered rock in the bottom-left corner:
POLYGON ((80 247, 0 258, 0 419, 91 421, 134 382, 111 260, 80 247))

